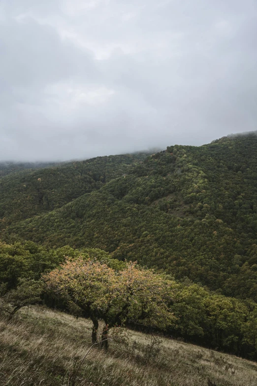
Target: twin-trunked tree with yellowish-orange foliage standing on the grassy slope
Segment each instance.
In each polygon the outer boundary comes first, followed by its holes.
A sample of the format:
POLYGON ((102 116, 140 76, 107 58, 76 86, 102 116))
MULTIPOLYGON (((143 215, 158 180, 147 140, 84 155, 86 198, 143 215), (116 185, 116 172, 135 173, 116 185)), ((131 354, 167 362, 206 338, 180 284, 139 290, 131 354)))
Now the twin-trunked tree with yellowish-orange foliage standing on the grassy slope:
POLYGON ((128 263, 115 271, 97 260, 66 261, 43 277, 49 292, 75 303, 93 322, 92 342, 97 339, 98 321, 104 320, 103 346, 108 330, 126 323, 165 328, 175 317, 168 308, 174 283, 152 270, 128 263))

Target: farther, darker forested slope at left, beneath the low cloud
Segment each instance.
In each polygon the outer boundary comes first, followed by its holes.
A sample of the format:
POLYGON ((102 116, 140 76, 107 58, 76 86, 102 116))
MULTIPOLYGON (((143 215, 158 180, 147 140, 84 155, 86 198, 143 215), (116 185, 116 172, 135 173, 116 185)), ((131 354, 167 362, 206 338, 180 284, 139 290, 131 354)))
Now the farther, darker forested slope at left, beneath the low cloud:
MULTIPOLYGON (((7 164, 12 172, 0 178, 0 218, 5 226, 60 208, 127 173, 131 164, 142 162, 146 156, 137 153, 96 157, 47 168, 21 164, 25 166, 20 171, 19 164, 7 164), (12 170, 12 166, 16 169, 12 170), (26 166, 33 168, 28 170, 26 166)), ((4 167, 0 167, 1 171, 4 173, 4 167)))

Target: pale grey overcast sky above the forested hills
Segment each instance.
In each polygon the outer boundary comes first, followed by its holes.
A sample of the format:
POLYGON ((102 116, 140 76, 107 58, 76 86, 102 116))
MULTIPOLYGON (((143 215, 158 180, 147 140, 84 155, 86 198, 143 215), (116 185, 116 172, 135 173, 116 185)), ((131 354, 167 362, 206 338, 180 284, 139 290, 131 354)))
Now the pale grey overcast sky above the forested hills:
POLYGON ((0 160, 257 130, 257 0, 0 0, 0 160))

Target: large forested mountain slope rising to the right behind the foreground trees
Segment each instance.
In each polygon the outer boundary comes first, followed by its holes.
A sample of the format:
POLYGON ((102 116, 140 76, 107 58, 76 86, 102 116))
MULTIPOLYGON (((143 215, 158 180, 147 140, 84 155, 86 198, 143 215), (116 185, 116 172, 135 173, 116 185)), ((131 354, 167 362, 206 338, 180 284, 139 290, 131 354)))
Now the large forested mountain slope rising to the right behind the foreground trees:
MULTIPOLYGON (((75 174, 70 170, 73 184, 75 174)), ((257 300, 256 133, 169 146, 85 193, 60 209, 4 225, 4 238, 98 247, 176 279, 257 300)))

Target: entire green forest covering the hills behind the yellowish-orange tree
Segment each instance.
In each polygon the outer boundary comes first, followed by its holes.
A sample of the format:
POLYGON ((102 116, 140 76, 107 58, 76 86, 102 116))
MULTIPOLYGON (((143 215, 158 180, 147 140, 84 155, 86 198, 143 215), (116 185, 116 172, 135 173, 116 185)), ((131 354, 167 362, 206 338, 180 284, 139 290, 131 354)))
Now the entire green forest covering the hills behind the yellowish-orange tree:
POLYGON ((137 261, 176 280, 170 333, 256 357, 257 133, 12 171, 0 226, 7 289, 65 256, 137 261))

